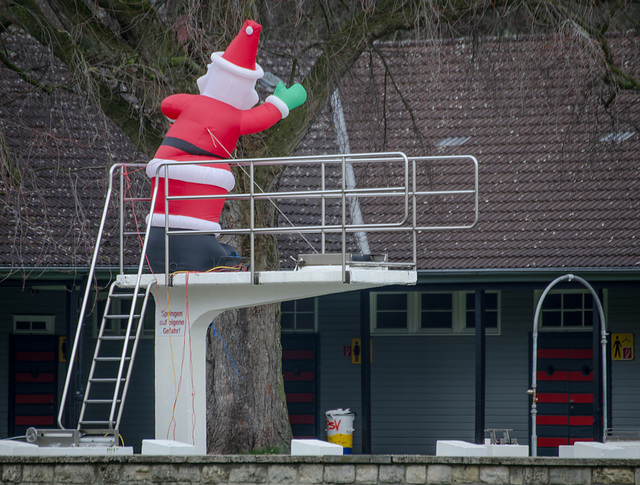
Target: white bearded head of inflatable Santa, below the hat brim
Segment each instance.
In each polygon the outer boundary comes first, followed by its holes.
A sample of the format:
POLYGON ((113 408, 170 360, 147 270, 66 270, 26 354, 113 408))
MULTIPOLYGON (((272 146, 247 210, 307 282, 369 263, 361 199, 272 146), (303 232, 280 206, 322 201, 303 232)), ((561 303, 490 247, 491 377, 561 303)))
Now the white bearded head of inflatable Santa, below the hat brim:
POLYGON ((263 72, 256 64, 255 71, 246 69, 230 69, 215 53, 211 56, 211 64, 207 66, 207 73, 198 79, 200 94, 230 104, 238 109, 250 109, 258 101, 258 93, 255 90, 256 81, 262 77, 263 72))

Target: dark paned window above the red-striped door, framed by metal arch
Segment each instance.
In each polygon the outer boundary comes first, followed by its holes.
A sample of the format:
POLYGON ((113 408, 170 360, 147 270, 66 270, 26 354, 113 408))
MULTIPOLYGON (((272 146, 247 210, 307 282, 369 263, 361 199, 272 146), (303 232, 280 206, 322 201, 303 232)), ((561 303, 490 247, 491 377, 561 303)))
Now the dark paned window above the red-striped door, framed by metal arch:
MULTIPOLYGON (((536 298, 540 300, 542 292, 536 298)), ((550 291, 542 304, 540 328, 587 329, 593 327, 593 296, 588 290, 550 291)))

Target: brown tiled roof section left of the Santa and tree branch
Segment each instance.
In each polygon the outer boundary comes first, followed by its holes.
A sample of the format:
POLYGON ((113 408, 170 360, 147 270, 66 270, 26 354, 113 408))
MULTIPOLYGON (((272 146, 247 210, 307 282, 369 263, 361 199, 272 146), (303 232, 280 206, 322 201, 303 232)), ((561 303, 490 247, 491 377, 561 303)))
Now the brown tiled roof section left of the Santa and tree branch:
POLYGON ((0 63, 0 267, 86 267, 109 167, 146 160, 33 38, 11 29, 2 45, 33 82, 0 63))

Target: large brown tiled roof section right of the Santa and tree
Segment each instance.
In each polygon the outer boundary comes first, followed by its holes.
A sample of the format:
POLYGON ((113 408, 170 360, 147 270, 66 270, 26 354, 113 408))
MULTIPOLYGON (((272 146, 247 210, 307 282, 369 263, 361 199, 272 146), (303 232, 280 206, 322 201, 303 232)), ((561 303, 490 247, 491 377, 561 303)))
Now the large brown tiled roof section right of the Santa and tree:
MULTIPOLYGON (((615 62, 640 76, 640 37, 610 41, 615 62)), ((381 43, 345 78, 353 153, 479 161, 477 227, 421 234, 421 269, 640 266, 640 93, 618 92, 605 108, 612 87, 599 59, 578 47, 556 37, 381 43)), ((305 152, 337 151, 327 119, 303 141, 305 152)), ((459 175, 440 168, 432 170, 435 190, 459 175)), ((293 185, 285 177, 281 187, 293 185)), ((455 222, 451 204, 443 198, 422 218, 455 222)), ((362 207, 365 222, 384 210, 362 207)), ((369 242, 392 259, 410 255, 394 234, 370 233, 369 242)))

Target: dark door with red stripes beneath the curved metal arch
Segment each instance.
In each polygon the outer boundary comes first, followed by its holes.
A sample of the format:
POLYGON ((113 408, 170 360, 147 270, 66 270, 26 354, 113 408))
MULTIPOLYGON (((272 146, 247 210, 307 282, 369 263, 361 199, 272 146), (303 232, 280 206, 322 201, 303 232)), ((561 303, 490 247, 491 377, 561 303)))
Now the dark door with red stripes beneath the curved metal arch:
POLYGON ((558 456, 558 446, 594 440, 591 333, 541 333, 538 337, 538 456, 558 456))

